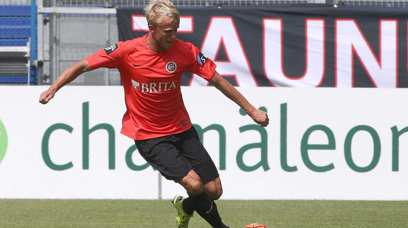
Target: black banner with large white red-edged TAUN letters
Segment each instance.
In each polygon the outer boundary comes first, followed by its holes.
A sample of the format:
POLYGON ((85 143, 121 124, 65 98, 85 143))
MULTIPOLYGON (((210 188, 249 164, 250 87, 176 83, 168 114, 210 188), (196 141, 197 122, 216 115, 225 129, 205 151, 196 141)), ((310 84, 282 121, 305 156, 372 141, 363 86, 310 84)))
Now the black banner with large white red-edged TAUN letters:
MULTIPOLYGON (((325 4, 179 7, 191 42, 235 86, 408 87, 404 7, 325 4)), ((117 10, 119 40, 148 33, 140 8, 117 10)), ((184 73, 182 85, 207 85, 184 73)))

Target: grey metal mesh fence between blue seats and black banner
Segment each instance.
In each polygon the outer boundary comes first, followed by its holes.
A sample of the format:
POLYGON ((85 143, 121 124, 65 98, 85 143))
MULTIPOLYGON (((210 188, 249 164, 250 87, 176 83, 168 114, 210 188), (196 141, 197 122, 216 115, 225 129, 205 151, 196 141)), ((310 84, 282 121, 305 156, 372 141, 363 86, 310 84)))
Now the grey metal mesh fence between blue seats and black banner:
MULTIPOLYGON (((75 62, 119 41, 115 15, 64 13, 55 18, 55 24, 51 21, 44 26, 44 83, 53 82, 57 75, 75 62), (52 34, 54 29, 50 29, 53 26, 56 29, 55 39, 52 34)), ((80 75, 71 84, 120 85, 121 81, 117 69, 97 69, 80 75)))

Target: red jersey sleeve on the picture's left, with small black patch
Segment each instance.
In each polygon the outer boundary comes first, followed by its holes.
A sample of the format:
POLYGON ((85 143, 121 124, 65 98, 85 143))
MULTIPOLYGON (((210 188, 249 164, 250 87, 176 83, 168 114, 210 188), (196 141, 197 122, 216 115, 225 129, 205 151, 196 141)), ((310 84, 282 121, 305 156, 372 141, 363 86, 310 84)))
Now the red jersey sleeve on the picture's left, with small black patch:
POLYGON ((105 49, 99 50, 92 55, 86 57, 86 60, 92 69, 105 68, 118 68, 122 59, 122 42, 113 44, 105 49))

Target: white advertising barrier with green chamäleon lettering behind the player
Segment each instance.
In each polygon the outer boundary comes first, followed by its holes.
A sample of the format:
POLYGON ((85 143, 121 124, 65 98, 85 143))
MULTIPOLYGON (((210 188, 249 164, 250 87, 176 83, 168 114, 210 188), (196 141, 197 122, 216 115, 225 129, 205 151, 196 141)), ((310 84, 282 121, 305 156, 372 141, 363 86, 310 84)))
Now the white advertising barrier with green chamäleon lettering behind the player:
MULTIPOLYGON (((120 134, 123 88, 65 86, 42 105, 47 88, 0 86, 0 198, 157 199, 157 171, 120 134)), ((238 89, 269 126, 213 87, 182 88, 222 199, 408 200, 407 89, 238 89)), ((162 178, 162 198, 177 194, 162 178)))

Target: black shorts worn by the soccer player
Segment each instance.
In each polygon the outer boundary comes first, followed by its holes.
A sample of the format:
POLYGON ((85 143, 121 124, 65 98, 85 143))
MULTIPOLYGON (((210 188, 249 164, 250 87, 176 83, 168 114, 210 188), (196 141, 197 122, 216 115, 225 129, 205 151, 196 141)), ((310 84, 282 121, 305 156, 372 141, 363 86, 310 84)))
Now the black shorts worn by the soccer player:
POLYGON ((220 176, 193 126, 173 135, 135 140, 135 144, 140 155, 166 179, 179 182, 191 169, 203 184, 220 176))

